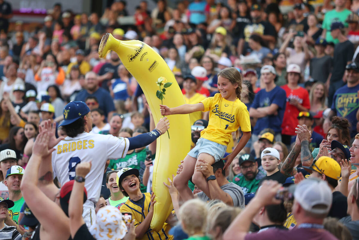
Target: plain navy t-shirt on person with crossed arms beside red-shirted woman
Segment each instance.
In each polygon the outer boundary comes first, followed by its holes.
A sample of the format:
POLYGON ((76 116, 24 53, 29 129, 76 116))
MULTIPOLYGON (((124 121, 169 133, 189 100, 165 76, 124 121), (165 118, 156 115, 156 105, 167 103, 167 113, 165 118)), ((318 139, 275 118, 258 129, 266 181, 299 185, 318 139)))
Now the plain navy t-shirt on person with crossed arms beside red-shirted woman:
POLYGON ((265 89, 260 90, 256 94, 251 107, 257 109, 258 107, 268 107, 271 104, 278 105, 278 114, 258 118, 253 134, 258 135, 265 128, 273 129, 275 134, 281 133, 280 126, 282 125, 286 104, 286 94, 283 88, 276 86, 269 92, 265 89))

